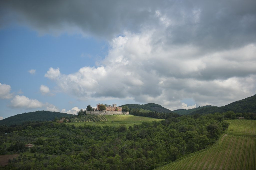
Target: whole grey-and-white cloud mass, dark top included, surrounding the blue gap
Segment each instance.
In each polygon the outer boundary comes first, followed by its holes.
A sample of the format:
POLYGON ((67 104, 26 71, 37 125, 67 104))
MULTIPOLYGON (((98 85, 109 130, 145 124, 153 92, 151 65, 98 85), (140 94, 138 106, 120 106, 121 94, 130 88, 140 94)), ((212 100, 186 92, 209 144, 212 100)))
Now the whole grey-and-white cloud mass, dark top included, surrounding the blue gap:
POLYGON ((95 67, 47 71, 45 77, 62 92, 173 110, 190 108, 184 98, 196 106, 221 106, 256 93, 255 6, 256 1, 231 0, 1 1, 0 23, 109 41, 108 55, 95 67))

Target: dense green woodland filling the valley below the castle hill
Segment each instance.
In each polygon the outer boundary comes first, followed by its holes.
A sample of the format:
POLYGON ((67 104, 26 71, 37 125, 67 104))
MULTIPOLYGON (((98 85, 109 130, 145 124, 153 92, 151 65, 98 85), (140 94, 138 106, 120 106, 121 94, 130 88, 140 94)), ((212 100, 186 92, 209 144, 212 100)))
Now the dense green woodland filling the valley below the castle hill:
MULTIPOLYGON (((28 151, 34 156, 9 160, 4 168, 17 169, 154 169, 214 143, 228 127, 219 113, 180 116, 160 122, 79 126, 39 122, 16 127, 1 126, 1 154, 28 151), (16 130, 16 131, 15 131, 16 130)), ((27 153, 27 152, 26 152, 27 153)))

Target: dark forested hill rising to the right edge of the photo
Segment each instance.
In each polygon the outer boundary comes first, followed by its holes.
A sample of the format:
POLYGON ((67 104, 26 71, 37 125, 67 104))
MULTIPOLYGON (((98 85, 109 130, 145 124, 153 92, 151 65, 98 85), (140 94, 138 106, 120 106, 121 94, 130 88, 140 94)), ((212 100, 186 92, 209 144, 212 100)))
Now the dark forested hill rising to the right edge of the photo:
POLYGON ((233 111, 235 113, 255 113, 256 112, 256 95, 251 97, 247 97, 242 100, 235 101, 233 103, 227 104, 221 107, 210 107, 210 108, 202 108, 200 110, 196 110, 191 114, 208 114, 208 113, 215 113, 215 112, 226 112, 226 111, 233 111))

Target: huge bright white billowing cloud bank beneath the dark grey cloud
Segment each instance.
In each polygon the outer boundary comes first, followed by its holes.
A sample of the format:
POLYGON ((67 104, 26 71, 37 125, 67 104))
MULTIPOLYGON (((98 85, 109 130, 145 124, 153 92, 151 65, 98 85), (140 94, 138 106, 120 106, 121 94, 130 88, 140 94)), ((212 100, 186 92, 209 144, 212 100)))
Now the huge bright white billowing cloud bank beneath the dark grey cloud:
POLYGON ((46 77, 81 100, 132 98, 170 110, 195 107, 182 104, 184 98, 195 99, 196 106, 223 106, 255 94, 255 44, 205 53, 194 45, 168 45, 156 35, 126 32, 110 43, 102 66, 67 75, 50 68, 46 77))

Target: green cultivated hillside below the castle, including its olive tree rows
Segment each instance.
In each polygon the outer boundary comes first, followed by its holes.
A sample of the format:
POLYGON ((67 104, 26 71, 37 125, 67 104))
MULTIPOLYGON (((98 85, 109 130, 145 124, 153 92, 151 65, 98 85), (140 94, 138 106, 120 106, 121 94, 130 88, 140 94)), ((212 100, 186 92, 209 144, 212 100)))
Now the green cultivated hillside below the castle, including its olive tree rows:
POLYGON ((134 124, 141 124, 142 122, 152 122, 152 121, 161 121, 163 119, 154 119, 151 117, 142 117, 142 116, 133 116, 133 115, 86 115, 77 119, 73 119, 71 123, 67 123, 69 125, 75 126, 119 126, 125 125, 126 127, 133 126, 134 124), (91 116, 96 121, 82 121, 88 119, 91 116), (77 122, 74 122, 74 121, 77 122), (99 120, 99 121, 98 121, 99 120), (79 122, 80 121, 80 122, 79 122))

